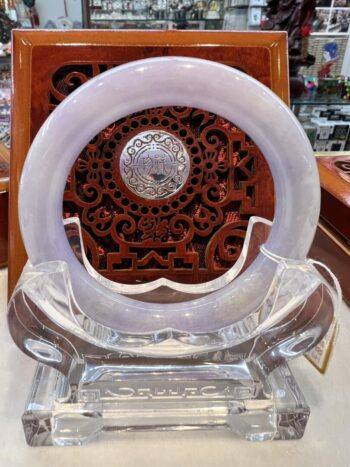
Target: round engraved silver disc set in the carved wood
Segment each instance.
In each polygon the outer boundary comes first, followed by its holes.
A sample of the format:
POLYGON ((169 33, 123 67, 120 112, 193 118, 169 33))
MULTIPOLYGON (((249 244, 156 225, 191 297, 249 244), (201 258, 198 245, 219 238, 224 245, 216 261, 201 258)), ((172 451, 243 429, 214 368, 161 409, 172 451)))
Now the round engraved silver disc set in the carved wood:
POLYGON ((166 131, 138 133, 120 156, 120 173, 130 191, 146 199, 164 199, 186 183, 190 158, 182 142, 166 131))

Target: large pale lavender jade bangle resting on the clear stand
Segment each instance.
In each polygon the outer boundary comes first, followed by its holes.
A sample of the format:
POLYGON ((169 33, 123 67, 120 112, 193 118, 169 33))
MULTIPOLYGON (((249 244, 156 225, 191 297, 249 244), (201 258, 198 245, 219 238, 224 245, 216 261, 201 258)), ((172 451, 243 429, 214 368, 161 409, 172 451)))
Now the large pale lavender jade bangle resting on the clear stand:
POLYGON ((161 329, 208 332, 228 326, 264 299, 276 264, 260 254, 226 287, 175 304, 144 303, 97 282, 78 262, 62 221, 69 171, 86 144, 112 122, 158 106, 202 108, 234 122, 264 154, 275 185, 275 219, 266 248, 304 259, 319 216, 313 151, 289 108, 268 88, 235 69, 184 57, 160 57, 116 67, 81 86, 50 115, 26 158, 19 193, 24 244, 35 265, 69 265, 77 304, 92 319, 129 333, 161 329))

